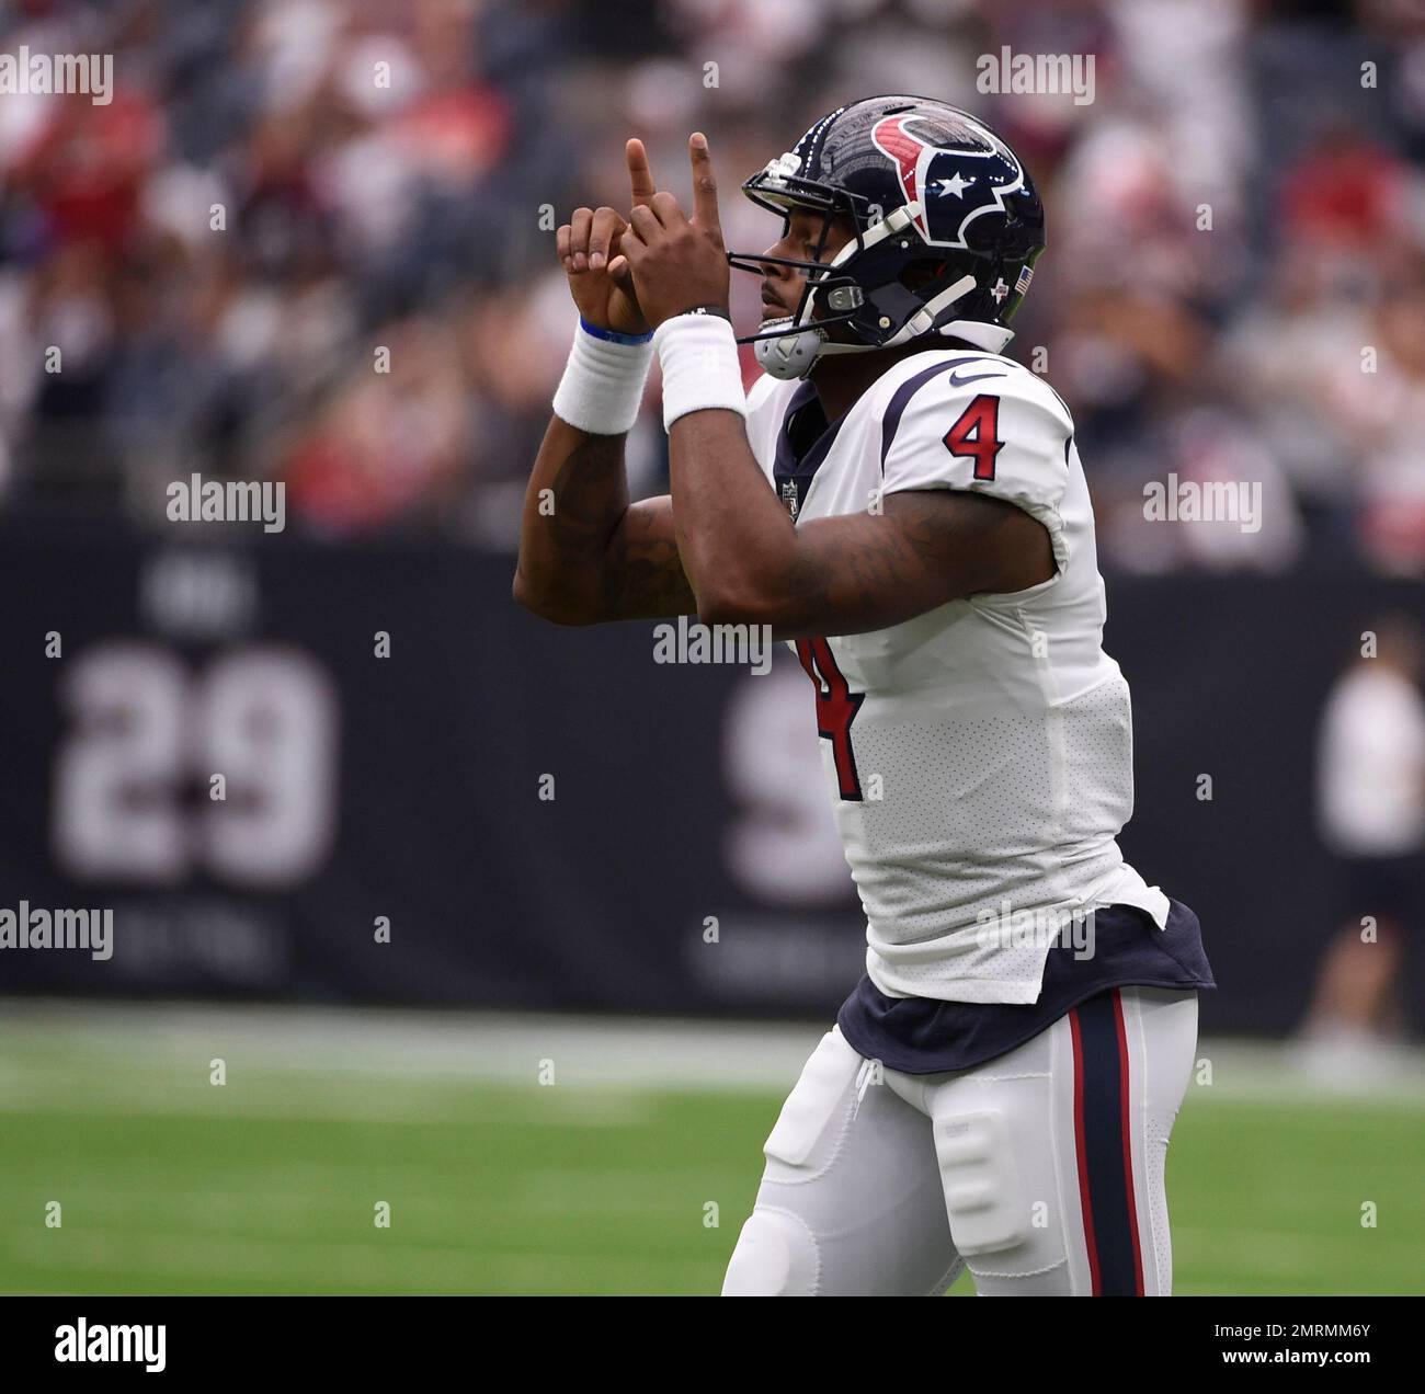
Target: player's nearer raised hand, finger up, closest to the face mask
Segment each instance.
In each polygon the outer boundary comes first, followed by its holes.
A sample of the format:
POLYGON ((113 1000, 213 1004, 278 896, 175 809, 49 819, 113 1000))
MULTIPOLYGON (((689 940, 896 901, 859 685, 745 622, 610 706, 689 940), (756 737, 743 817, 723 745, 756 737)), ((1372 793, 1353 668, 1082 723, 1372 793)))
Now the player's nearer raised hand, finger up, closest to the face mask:
MULTIPOLYGON (((633 144, 633 143, 630 143, 633 144)), ((677 198, 653 194, 636 202, 620 241, 624 261, 633 268, 638 304, 650 325, 700 305, 727 309, 727 254, 717 211, 717 178, 707 137, 688 138, 693 164, 693 217, 685 218, 677 198)))

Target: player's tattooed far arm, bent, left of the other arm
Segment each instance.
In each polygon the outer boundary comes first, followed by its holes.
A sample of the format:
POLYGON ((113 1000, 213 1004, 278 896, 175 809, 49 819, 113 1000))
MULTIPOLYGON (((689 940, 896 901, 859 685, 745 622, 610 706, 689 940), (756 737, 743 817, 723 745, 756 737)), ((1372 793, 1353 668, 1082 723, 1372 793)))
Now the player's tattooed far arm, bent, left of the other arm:
POLYGON ((550 420, 524 492, 514 599, 557 624, 697 613, 673 502, 628 503, 623 436, 550 420))

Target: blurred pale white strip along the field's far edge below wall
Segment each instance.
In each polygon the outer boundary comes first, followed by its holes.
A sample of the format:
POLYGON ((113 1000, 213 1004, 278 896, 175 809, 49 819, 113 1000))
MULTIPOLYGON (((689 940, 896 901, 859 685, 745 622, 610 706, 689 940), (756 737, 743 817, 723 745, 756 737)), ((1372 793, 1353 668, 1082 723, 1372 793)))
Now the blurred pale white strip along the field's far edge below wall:
MULTIPOLYGON (((192 1062, 222 1058, 229 1076, 262 1072, 268 1083, 284 1073, 443 1088, 551 1078, 618 1089, 778 1093, 797 1079, 824 1029, 807 1022, 10 998, 0 999, 0 1095, 28 1093, 21 1080, 50 1070, 84 1068, 105 1076, 118 1056, 185 1073, 192 1062)), ((1211 1083, 1194 1085, 1196 1099, 1425 1109, 1421 1050, 1398 1052, 1369 1079, 1337 1088, 1301 1072, 1290 1043, 1208 1039, 1197 1056, 1210 1063, 1211 1083)))

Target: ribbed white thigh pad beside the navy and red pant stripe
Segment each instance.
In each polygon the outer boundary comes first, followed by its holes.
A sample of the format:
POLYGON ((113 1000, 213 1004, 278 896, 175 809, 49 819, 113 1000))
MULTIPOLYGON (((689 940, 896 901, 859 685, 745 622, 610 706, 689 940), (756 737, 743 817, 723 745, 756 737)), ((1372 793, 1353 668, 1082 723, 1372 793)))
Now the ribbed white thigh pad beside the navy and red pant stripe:
POLYGON ((966 1257, 1000 1253, 1029 1237, 1029 1202, 1002 1113, 952 1113, 935 1120, 935 1150, 955 1247, 966 1257))

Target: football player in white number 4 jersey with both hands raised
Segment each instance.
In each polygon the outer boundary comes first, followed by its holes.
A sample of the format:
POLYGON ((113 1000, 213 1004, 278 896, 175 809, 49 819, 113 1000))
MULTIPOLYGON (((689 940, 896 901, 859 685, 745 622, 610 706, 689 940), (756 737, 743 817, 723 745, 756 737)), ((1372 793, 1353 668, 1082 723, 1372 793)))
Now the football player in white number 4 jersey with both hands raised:
POLYGON ((514 594, 768 626, 814 684, 866 974, 767 1139, 724 1293, 942 1293, 968 1264, 980 1294, 1166 1294, 1213 978, 1119 851, 1129 688, 1073 419, 1003 352, 1039 195, 982 121, 875 97, 744 184, 781 237, 727 254, 701 134, 690 157, 691 215, 630 141, 627 217, 559 231, 580 322, 514 594), (745 395, 730 264, 762 281, 745 395), (630 505, 654 352, 671 495, 630 505))

